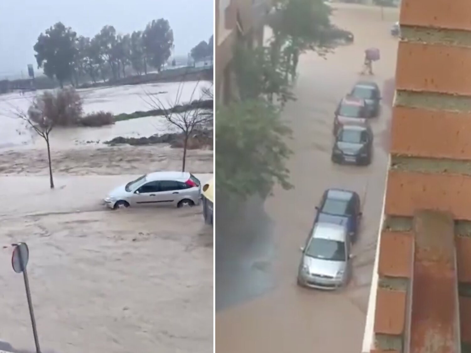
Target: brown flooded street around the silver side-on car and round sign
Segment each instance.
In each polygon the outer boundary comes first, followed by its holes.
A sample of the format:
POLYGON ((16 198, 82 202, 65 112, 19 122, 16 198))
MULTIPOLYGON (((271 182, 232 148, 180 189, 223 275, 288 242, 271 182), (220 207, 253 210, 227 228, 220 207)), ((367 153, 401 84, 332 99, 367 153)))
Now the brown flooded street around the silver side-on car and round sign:
MULTIPOLYGON (((211 174, 196 174, 204 183, 211 174)), ((202 209, 111 211, 120 176, 0 176, 0 338, 32 349, 12 248, 25 241, 43 352, 212 351, 212 228, 202 209)))

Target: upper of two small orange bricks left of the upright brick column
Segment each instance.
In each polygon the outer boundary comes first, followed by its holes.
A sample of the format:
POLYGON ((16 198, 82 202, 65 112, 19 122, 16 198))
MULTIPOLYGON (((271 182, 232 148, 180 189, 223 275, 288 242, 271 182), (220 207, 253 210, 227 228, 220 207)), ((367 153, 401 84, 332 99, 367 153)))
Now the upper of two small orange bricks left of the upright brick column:
POLYGON ((378 274, 389 277, 411 277, 414 237, 409 232, 381 234, 378 274))

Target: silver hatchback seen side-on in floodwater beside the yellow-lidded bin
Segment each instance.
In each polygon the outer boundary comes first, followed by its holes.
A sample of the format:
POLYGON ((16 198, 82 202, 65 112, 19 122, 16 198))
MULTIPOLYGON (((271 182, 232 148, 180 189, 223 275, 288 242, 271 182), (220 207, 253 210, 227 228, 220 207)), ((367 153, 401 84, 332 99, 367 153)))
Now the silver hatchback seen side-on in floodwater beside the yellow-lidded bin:
POLYGON ((130 206, 195 206, 201 200, 201 183, 187 172, 155 172, 113 189, 104 202, 110 209, 130 206))

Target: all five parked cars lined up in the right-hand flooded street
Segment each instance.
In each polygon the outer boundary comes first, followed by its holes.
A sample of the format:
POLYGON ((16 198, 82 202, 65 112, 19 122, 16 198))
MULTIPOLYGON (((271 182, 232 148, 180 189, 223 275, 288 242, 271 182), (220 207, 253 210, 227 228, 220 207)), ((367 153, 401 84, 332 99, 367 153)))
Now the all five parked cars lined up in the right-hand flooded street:
MULTIPOLYGON (((368 165, 373 155, 373 130, 369 120, 381 112, 381 92, 374 82, 360 81, 335 110, 332 161, 368 165)), ((324 192, 316 207, 314 224, 298 268, 298 285, 338 289, 352 276, 352 245, 362 217, 358 193, 341 188, 324 192)))

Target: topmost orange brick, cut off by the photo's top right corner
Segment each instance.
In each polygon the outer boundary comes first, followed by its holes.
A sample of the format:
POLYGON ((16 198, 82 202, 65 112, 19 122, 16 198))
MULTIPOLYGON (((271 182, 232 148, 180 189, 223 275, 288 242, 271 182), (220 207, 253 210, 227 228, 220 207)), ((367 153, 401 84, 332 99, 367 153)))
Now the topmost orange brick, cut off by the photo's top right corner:
POLYGON ((469 0, 402 0, 399 22, 422 27, 471 30, 469 0))

